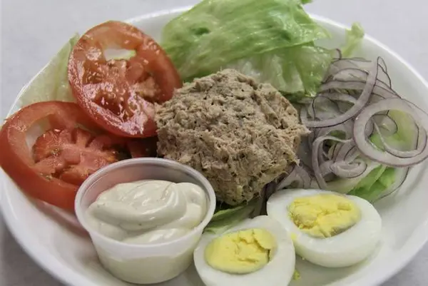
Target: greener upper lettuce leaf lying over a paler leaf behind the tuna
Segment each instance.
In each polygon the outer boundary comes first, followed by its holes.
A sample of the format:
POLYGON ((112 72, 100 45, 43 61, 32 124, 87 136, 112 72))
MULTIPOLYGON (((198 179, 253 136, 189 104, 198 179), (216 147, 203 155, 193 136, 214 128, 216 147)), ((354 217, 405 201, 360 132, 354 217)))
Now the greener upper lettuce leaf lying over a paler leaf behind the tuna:
POLYGON ((277 63, 276 68, 283 68, 292 56, 300 56, 297 50, 288 52, 287 48, 328 36, 301 4, 297 0, 204 0, 165 26, 162 46, 185 80, 213 73, 243 58, 254 58, 257 65, 263 61, 258 56, 272 51, 288 58, 283 64, 277 63))

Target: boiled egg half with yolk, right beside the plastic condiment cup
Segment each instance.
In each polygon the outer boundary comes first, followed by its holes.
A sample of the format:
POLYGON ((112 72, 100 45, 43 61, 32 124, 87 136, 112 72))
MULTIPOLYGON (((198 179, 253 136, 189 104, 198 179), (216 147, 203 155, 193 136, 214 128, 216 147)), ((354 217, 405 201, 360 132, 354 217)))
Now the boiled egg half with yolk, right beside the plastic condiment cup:
POLYGON ((207 286, 287 285, 295 270, 290 235, 267 215, 221 235, 204 233, 193 258, 207 286))

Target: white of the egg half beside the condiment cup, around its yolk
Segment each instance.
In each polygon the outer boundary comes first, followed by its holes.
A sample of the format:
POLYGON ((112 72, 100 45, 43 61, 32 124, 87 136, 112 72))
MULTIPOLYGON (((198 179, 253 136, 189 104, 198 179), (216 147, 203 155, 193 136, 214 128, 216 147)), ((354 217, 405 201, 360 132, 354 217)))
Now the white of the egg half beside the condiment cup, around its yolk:
POLYGON ((200 278, 207 286, 236 286, 236 285, 287 285, 295 270, 295 249, 290 235, 282 228, 280 223, 267 215, 244 220, 242 223, 230 228, 225 233, 213 235, 205 233, 198 247, 193 252, 195 267, 200 278), (260 270, 248 274, 230 274, 210 267, 205 262, 205 247, 211 240, 225 233, 234 233, 239 230, 261 228, 270 232, 277 242, 272 260, 260 270))

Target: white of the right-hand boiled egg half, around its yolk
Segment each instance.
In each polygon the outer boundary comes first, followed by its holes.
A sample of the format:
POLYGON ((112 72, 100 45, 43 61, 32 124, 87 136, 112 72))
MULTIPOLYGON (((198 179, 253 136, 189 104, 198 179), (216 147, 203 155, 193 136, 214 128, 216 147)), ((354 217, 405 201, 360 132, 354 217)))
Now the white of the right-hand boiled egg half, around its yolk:
POLYGON ((347 267, 365 260, 377 247, 382 231, 382 219, 367 200, 345 195, 360 208, 361 219, 348 230, 331 238, 313 238, 302 232, 290 219, 287 208, 293 200, 321 193, 341 195, 326 190, 280 190, 267 200, 267 215, 275 218, 290 233, 296 253, 314 264, 347 267))

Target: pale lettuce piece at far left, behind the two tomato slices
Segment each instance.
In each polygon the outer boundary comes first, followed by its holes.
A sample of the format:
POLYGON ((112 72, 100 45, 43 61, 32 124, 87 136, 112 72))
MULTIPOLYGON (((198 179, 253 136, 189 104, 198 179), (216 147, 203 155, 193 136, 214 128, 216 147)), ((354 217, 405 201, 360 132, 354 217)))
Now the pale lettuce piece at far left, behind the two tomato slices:
POLYGON ((20 98, 21 106, 39 101, 74 101, 68 85, 68 57, 80 36, 74 35, 49 61, 20 98))

